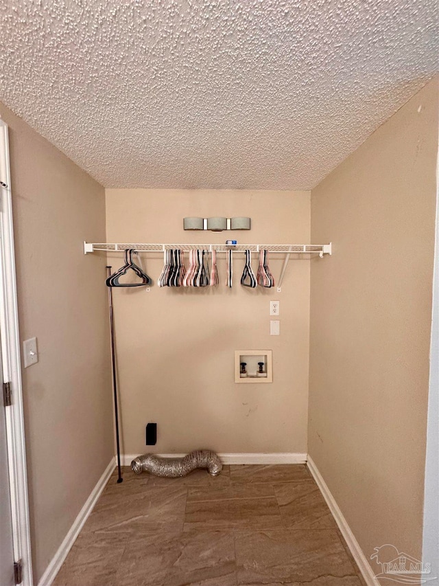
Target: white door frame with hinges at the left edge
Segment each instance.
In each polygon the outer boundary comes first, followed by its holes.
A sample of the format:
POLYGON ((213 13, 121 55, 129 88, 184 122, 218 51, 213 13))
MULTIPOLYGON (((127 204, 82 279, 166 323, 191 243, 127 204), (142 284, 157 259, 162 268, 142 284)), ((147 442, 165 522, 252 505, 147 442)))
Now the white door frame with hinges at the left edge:
POLYGON ((32 586, 9 141, 8 125, 3 120, 0 120, 0 181, 0 331, 3 382, 10 383, 12 392, 12 405, 5 407, 5 414, 14 561, 21 560, 22 562, 23 586, 32 586))

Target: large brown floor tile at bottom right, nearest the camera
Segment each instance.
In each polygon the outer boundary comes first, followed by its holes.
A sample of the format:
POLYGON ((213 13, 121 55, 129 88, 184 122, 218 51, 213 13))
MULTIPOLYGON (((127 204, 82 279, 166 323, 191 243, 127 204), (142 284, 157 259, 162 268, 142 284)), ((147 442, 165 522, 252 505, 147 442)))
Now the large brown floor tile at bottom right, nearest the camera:
POLYGON ((347 583, 355 584, 357 578, 332 530, 235 531, 235 550, 239 585, 314 581, 320 586, 329 578, 337 578, 338 584, 349 578, 347 583))

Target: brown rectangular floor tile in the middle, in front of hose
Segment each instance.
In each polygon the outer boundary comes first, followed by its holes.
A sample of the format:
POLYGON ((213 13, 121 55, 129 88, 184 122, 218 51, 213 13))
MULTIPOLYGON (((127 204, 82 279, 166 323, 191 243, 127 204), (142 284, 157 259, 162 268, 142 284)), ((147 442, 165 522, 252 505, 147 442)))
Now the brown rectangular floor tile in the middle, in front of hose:
POLYGON ((274 529, 282 520, 274 497, 188 502, 185 531, 189 529, 274 529))

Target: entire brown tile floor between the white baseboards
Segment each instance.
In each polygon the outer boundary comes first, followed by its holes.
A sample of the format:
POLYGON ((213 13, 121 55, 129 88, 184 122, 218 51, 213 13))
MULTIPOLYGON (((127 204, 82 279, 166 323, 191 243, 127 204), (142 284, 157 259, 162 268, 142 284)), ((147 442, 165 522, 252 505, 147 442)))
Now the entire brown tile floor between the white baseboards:
POLYGON ((305 465, 116 478, 54 586, 364 586, 305 465))

